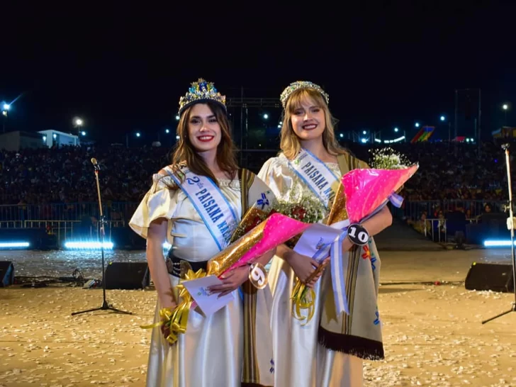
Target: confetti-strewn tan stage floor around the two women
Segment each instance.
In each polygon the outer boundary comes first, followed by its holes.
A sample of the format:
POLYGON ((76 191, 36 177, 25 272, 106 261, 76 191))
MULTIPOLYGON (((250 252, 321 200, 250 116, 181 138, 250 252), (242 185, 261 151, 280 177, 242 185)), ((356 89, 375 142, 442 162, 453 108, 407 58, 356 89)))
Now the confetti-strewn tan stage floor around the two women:
MULTIPOLYGON (((464 281, 471 262, 508 263, 509 253, 381 253, 386 360, 364 362, 364 386, 516 386, 516 313, 481 325, 510 308, 514 296, 466 291, 456 283, 464 281), (430 284, 434 281, 444 284, 430 284)), ((143 259, 142 252, 113 254, 111 260, 143 259)), ((69 276, 78 263, 65 254, 47 258, 0 254, 0 260, 14 262, 17 275, 69 276)), ((83 258, 84 275, 98 274, 99 259, 83 258)), ((139 325, 151 321, 155 291, 107 295, 113 306, 135 315, 70 315, 100 306, 99 289, 1 288, 0 386, 145 386, 150 331, 139 325)))

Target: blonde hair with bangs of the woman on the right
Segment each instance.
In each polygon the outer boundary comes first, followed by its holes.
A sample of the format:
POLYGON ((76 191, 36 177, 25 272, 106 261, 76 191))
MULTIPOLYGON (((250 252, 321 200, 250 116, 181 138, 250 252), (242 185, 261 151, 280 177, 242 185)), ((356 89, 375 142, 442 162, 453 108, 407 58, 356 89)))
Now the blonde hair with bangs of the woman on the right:
POLYGON ((325 130, 322 132, 322 145, 324 145, 325 150, 334 156, 347 153, 335 138, 335 128, 333 127, 335 118, 330 113, 324 97, 315 89, 298 89, 288 97, 284 110, 283 125, 281 125, 279 143, 281 152, 288 159, 293 159, 301 150, 301 140, 292 127, 292 115, 294 111, 302 107, 301 102, 303 101, 310 101, 313 105, 322 108, 325 113, 325 130))

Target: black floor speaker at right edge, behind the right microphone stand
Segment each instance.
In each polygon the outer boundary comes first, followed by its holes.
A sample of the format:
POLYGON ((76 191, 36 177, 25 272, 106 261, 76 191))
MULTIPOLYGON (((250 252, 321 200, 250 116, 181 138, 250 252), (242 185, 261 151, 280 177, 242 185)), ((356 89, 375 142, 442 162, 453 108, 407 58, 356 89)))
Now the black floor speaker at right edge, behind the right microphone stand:
POLYGON ((510 264, 478 264, 473 262, 464 284, 468 290, 490 290, 512 293, 512 266, 510 264))

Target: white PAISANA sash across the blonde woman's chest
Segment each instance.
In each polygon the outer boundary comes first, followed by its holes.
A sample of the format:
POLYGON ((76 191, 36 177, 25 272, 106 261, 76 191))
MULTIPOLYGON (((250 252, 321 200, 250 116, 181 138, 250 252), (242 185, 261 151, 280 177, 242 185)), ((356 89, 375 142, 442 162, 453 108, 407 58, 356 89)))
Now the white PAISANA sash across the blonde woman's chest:
POLYGON ((333 184, 338 181, 338 176, 335 176, 326 164, 312 153, 304 148, 293 159, 288 162, 294 172, 310 187, 315 196, 328 208, 328 203, 335 196, 335 191, 332 189, 333 184))

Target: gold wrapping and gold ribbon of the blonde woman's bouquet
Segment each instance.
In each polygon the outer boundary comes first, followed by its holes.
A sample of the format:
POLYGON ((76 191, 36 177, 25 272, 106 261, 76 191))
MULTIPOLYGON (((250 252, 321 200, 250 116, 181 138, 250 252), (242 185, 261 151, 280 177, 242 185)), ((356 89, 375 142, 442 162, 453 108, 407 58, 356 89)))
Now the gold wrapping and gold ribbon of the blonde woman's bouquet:
MULTIPOLYGON (((332 208, 330 209, 330 214, 325 218, 325 225, 332 225, 333 223, 341 222, 342 220, 348 219, 349 216, 346 210, 346 194, 344 194, 344 185, 339 184, 337 188, 337 193, 335 194, 335 198, 333 199, 332 208)), ((306 284, 309 284, 316 276, 318 276, 322 270, 330 264, 330 261, 327 260, 322 262, 315 271, 313 271, 310 276, 306 279, 305 283, 301 281, 301 279, 296 279, 296 284, 292 289, 291 299, 293 301, 293 315, 298 320, 305 320, 305 324, 308 324, 310 319, 313 317, 313 310, 315 308, 315 293, 313 289, 308 288, 306 284), (308 316, 305 318, 301 315, 301 310, 308 310, 308 316)))

